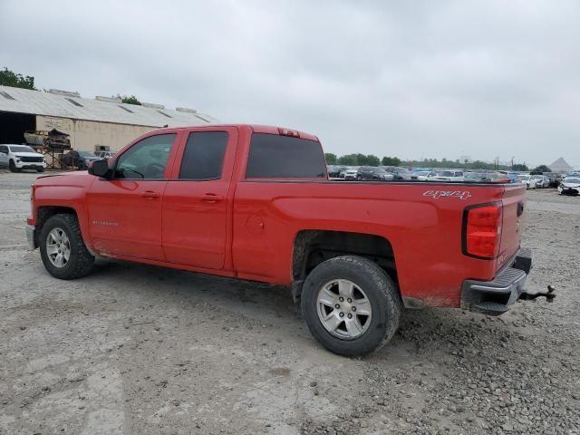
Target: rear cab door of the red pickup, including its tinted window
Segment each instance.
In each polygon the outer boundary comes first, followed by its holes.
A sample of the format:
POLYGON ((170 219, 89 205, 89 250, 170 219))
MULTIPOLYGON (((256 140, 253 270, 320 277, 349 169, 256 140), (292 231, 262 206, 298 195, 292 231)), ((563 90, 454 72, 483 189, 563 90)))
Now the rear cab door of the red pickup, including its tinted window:
POLYGON ((163 249, 170 263, 224 267, 236 145, 233 127, 186 135, 163 196, 163 249))

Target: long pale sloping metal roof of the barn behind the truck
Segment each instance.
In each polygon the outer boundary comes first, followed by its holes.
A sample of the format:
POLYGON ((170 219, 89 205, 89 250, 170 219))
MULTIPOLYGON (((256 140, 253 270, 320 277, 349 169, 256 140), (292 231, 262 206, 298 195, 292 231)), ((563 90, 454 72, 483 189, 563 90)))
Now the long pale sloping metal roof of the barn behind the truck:
POLYGON ((211 116, 191 109, 166 109, 160 104, 124 104, 114 98, 82 98, 78 92, 31 91, 0 86, 0 111, 113 122, 148 127, 179 127, 216 123, 211 116))

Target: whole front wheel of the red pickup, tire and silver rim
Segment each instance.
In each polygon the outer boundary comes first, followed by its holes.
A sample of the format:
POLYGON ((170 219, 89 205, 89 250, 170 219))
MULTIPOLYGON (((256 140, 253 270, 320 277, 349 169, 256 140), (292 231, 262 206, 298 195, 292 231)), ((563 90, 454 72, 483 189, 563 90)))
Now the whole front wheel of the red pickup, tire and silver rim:
POLYGON ((94 256, 82 241, 81 228, 74 215, 48 218, 40 232, 39 245, 44 267, 55 278, 80 278, 92 270, 94 256))

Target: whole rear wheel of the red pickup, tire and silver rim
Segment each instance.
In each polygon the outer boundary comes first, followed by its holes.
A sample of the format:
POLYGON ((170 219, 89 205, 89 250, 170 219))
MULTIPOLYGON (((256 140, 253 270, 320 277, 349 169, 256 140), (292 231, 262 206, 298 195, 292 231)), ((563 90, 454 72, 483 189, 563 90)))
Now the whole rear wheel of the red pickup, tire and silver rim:
POLYGON ((381 267, 360 256, 338 256, 307 276, 302 313, 326 349, 361 356, 391 340, 399 327, 401 299, 381 267))

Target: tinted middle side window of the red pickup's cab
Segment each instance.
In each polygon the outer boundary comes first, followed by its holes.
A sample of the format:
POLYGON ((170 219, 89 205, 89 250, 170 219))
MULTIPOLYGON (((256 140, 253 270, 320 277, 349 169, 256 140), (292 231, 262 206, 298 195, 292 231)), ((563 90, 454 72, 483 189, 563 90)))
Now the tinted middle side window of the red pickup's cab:
POLYGON ((226 131, 189 133, 179 179, 220 179, 226 148, 226 131))

